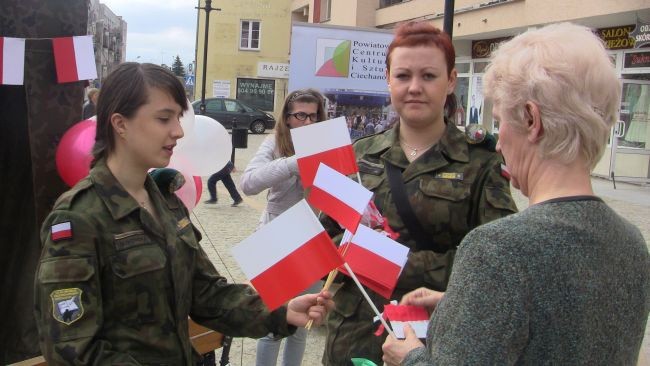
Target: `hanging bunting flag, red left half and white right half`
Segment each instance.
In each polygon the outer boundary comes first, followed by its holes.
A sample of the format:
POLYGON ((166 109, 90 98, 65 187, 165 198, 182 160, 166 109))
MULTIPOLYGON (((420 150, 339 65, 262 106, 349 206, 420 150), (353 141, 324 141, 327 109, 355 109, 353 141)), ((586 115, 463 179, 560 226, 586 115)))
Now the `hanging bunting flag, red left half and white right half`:
POLYGON ((97 78, 92 36, 53 38, 52 47, 59 84, 97 78))

